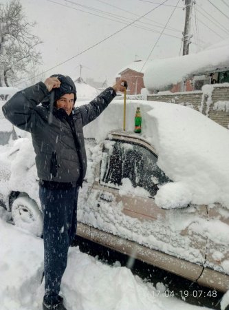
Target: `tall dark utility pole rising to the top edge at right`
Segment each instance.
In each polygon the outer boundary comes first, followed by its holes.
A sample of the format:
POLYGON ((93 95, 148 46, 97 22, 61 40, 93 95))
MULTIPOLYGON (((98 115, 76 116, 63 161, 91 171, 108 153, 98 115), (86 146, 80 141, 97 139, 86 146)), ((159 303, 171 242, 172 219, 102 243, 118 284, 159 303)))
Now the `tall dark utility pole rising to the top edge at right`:
POLYGON ((191 43, 190 38, 193 37, 190 34, 190 24, 192 18, 192 9, 193 9, 194 0, 185 0, 185 25, 184 25, 184 32, 183 32, 183 55, 188 55, 189 51, 189 44, 191 43))

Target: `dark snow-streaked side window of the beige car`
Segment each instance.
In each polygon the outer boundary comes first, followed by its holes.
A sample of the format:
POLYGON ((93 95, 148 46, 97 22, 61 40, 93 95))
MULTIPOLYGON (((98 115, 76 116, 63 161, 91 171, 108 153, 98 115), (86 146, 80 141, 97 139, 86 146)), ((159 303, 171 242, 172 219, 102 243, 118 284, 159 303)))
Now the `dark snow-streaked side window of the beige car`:
POLYGON ((155 196, 157 185, 171 182, 157 166, 157 155, 142 145, 106 141, 102 153, 100 183, 119 188, 129 178, 133 187, 143 187, 155 196))

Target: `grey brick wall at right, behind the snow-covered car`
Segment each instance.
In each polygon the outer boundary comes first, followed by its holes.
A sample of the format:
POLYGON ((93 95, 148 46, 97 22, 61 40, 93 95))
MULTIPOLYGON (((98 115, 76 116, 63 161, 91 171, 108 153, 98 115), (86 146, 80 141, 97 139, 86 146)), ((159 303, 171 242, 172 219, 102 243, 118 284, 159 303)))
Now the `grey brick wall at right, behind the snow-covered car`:
POLYGON ((149 101, 164 101, 189 105, 212 121, 229 128, 229 83, 204 85, 202 91, 152 94, 149 101))

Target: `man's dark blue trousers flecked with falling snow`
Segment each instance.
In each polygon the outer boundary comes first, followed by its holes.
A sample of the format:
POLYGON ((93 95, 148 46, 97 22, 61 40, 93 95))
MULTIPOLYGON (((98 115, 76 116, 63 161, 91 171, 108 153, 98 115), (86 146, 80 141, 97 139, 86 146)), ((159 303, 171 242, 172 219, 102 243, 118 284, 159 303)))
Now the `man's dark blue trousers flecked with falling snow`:
POLYGON ((39 196, 44 220, 44 302, 54 305, 59 301, 67 252, 76 234, 78 187, 47 189, 40 186, 39 196))

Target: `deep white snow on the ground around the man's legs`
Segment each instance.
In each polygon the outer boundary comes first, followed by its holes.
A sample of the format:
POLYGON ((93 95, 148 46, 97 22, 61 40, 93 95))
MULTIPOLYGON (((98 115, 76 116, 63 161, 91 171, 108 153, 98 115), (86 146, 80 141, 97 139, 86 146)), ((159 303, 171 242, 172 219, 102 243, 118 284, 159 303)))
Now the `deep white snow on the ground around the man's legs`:
MULTIPOLYGON (((41 310, 43 240, 9 223, 0 212, 0 309, 41 310)), ((69 249, 61 293, 68 310, 207 309, 166 297, 120 265, 108 266, 77 248, 69 249)))

